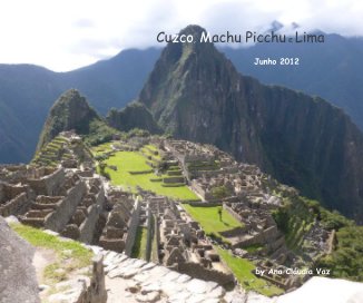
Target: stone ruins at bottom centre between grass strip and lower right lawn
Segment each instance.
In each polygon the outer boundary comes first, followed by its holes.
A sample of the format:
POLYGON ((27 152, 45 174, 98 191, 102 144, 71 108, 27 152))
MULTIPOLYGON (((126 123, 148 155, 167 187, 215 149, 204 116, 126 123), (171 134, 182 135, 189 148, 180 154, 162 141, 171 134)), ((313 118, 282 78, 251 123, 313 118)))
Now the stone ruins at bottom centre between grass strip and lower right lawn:
POLYGON ((160 264, 220 285, 234 284, 233 274, 220 262, 198 223, 178 203, 166 197, 148 197, 146 201, 158 222, 156 241, 160 264))

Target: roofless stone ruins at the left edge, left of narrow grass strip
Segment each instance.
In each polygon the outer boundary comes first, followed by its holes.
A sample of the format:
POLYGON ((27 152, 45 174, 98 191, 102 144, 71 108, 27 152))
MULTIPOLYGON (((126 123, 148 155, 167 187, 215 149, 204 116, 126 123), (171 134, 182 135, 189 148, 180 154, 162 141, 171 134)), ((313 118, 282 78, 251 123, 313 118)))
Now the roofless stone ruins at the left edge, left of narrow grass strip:
POLYGON ((87 169, 1 166, 0 215, 130 254, 139 202, 117 188, 106 193, 105 182, 87 169))

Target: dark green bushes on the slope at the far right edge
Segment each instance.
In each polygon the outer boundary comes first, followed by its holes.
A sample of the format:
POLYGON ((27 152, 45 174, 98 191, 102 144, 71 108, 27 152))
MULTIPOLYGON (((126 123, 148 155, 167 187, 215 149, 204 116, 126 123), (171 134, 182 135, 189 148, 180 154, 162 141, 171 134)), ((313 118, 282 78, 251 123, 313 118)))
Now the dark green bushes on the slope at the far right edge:
POLYGON ((327 231, 336 231, 336 244, 332 253, 317 260, 316 267, 330 268, 331 276, 353 281, 363 280, 363 227, 342 216, 330 212, 318 202, 305 197, 294 197, 284 207, 273 213, 278 228, 285 234, 290 248, 298 251, 303 245, 303 235, 310 229, 314 219, 327 231))

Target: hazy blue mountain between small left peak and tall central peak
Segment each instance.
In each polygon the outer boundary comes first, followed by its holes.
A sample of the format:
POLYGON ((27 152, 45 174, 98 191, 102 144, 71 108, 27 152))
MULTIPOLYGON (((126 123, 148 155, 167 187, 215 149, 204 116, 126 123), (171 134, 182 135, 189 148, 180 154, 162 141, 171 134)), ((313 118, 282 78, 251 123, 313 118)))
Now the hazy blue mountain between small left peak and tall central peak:
POLYGON ((60 74, 62 90, 77 88, 98 113, 122 108, 135 99, 151 71, 160 50, 128 49, 95 65, 60 74))

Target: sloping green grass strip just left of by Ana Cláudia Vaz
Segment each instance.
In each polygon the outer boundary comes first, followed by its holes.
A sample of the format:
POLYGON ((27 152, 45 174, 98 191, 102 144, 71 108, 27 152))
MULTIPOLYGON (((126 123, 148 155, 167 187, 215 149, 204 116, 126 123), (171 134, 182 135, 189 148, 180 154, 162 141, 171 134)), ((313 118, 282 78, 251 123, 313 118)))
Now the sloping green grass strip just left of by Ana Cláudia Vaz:
POLYGON ((235 257, 227 251, 219 247, 216 247, 216 250, 245 290, 256 291, 268 296, 279 295, 284 293, 284 291, 277 286, 269 284, 263 278, 256 277, 252 273, 252 271, 255 268, 255 265, 248 260, 235 257))

